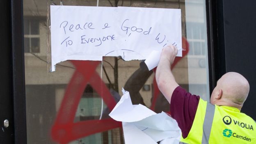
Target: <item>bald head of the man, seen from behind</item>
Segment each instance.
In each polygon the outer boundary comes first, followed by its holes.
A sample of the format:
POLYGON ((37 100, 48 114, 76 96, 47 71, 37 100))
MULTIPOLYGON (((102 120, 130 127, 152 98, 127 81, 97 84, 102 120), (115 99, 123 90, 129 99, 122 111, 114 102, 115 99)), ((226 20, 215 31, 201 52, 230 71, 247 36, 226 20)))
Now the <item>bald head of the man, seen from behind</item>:
POLYGON ((210 98, 210 103, 236 107, 241 110, 248 93, 249 82, 239 73, 224 74, 217 82, 210 98))

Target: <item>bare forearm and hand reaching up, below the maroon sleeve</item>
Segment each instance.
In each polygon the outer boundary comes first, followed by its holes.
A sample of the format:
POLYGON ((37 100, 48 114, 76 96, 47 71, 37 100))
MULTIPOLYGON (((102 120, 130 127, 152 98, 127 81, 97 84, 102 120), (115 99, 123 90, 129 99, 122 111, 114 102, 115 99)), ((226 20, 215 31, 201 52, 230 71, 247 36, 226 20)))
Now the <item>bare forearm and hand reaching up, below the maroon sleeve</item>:
POLYGON ((177 53, 178 50, 175 46, 166 46, 163 48, 160 62, 155 73, 158 88, 169 103, 171 103, 171 96, 174 89, 178 87, 178 84, 171 73, 171 64, 174 62, 177 53))

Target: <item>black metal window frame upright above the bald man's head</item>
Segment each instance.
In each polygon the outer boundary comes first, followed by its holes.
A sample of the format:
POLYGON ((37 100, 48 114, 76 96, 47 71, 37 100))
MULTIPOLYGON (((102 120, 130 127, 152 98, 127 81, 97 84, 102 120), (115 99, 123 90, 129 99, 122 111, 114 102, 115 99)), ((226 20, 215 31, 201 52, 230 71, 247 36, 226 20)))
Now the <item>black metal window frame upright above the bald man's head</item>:
POLYGON ((206 0, 210 95, 217 80, 226 73, 222 0, 206 0))

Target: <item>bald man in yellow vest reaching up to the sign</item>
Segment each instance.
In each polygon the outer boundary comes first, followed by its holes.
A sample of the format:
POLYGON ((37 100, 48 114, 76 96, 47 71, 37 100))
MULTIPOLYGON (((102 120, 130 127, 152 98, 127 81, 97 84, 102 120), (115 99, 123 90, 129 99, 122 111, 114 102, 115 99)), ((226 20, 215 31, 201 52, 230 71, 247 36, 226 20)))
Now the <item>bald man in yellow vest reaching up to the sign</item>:
POLYGON ((249 93, 248 81, 239 73, 224 74, 208 103, 177 84, 171 73, 176 55, 175 46, 162 49, 155 78, 181 128, 180 144, 256 144, 256 122, 240 112, 249 93))

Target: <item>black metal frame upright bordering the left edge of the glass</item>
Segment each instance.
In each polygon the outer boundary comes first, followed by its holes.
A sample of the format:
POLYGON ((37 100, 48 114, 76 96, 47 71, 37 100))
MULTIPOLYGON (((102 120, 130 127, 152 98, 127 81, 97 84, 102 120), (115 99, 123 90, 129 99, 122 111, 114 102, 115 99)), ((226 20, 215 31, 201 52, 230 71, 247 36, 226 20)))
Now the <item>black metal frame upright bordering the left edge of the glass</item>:
POLYGON ((26 144, 23 0, 11 0, 11 27, 14 142, 26 144))

